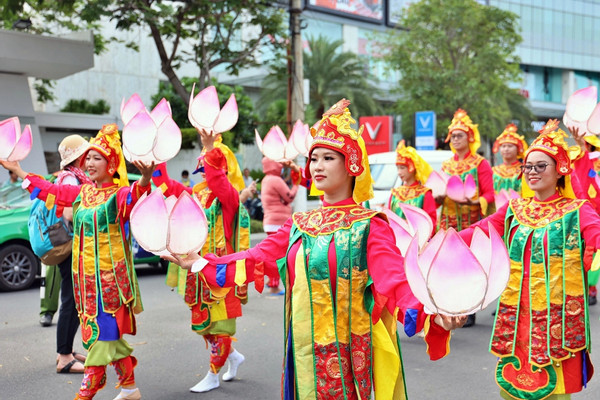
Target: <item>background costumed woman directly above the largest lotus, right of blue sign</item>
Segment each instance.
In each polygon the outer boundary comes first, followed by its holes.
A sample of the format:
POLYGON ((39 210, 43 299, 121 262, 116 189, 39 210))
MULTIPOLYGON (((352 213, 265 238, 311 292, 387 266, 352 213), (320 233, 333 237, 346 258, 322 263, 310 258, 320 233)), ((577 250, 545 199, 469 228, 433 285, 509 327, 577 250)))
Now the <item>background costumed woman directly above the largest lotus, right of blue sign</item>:
MULTIPOLYGON (((463 181, 471 175, 477 186, 477 193, 465 203, 457 203, 449 197, 438 197, 436 202, 442 205, 440 228, 450 227, 460 231, 479 221, 487 213, 488 205, 494 201, 494 181, 492 168, 482 156, 477 154, 481 144, 479 129, 471 121, 467 112, 456 110, 452 123, 448 126, 450 148, 454 156, 442 163, 442 171, 448 175, 457 175, 463 181)), ((467 326, 470 322, 467 322, 467 326)))

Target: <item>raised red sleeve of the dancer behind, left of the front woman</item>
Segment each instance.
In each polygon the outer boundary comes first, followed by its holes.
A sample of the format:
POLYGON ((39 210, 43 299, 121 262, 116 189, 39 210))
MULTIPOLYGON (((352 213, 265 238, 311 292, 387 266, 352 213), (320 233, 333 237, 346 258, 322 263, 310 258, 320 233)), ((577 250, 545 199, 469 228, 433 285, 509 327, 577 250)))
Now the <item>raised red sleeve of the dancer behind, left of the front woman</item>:
POLYGON ((218 147, 204 156, 204 172, 208 188, 221 202, 225 238, 233 234, 233 221, 240 205, 240 195, 227 179, 227 159, 218 147))

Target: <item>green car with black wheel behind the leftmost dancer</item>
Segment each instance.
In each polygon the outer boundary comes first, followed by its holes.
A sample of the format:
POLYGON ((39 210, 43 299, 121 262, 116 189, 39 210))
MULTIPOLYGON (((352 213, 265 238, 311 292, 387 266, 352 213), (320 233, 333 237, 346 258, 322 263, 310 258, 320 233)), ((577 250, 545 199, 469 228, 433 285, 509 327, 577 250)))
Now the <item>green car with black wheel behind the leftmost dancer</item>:
MULTIPOLYGON (((139 179, 131 174, 130 181, 139 179)), ((0 188, 0 291, 23 290, 40 274, 40 260, 31 250, 27 221, 31 208, 29 192, 20 185, 0 188)), ((168 262, 132 241, 134 263, 165 269, 168 262)))

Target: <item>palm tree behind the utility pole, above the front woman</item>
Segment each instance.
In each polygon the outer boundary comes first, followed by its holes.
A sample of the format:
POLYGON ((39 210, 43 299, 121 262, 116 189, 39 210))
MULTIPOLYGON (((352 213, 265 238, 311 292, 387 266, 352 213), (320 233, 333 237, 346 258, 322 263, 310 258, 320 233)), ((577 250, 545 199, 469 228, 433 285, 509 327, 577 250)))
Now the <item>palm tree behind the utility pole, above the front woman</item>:
MULTIPOLYGON (((343 97, 352 102, 350 107, 355 115, 372 115, 380 110, 375 100, 379 91, 366 60, 356 53, 341 51, 343 43, 342 40, 330 41, 322 36, 308 39, 310 50, 305 51, 303 56, 304 78, 310 83, 310 109, 314 112, 307 110, 307 121, 319 119, 343 97)), ((259 104, 265 109, 273 107, 277 100, 287 98, 287 60, 284 57, 280 60, 271 64, 271 71, 263 81, 259 104)), ((270 111, 274 110, 271 108, 270 111)))

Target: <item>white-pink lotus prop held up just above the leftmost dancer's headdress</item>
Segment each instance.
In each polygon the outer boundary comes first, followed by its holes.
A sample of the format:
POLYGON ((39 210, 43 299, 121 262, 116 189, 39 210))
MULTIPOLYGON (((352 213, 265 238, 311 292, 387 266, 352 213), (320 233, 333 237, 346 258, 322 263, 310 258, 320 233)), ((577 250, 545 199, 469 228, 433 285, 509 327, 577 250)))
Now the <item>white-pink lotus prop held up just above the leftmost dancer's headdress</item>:
POLYGON ((134 94, 121 102, 123 155, 132 162, 162 163, 175 157, 181 148, 181 131, 171 115, 171 106, 162 99, 148 112, 134 94))

